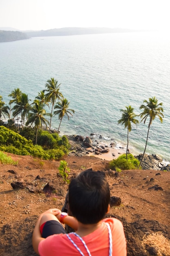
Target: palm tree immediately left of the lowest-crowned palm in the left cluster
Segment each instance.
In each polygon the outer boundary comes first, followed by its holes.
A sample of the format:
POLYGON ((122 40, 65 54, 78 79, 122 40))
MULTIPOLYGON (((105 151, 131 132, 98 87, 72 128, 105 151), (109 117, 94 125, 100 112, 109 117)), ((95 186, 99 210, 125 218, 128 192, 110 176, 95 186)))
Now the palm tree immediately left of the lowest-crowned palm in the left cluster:
POLYGON ((27 121, 28 120, 27 114, 28 114, 29 110, 31 109, 31 106, 28 103, 28 101, 31 101, 30 99, 28 99, 28 94, 22 93, 22 95, 18 98, 17 105, 15 105, 13 107, 13 110, 14 110, 13 116, 21 113, 22 128, 23 128, 23 125, 25 122, 25 117, 26 117, 26 121, 27 121))

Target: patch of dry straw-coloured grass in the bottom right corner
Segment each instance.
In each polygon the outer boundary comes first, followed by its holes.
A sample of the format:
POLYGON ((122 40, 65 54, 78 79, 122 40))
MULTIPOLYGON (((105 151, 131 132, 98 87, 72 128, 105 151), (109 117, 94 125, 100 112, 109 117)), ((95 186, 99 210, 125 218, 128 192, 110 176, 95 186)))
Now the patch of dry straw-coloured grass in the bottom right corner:
POLYGON ((157 247, 158 256, 170 256, 170 240, 165 238, 161 232, 153 233, 143 237, 142 245, 146 247, 157 247))

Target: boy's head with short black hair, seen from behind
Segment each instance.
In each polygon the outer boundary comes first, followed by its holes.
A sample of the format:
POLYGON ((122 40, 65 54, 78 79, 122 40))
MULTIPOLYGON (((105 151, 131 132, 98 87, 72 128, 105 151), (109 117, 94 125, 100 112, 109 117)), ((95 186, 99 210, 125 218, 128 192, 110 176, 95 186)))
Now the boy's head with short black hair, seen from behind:
POLYGON ((95 224, 105 217, 110 202, 105 174, 92 169, 81 172, 69 185, 72 216, 83 224, 95 224))

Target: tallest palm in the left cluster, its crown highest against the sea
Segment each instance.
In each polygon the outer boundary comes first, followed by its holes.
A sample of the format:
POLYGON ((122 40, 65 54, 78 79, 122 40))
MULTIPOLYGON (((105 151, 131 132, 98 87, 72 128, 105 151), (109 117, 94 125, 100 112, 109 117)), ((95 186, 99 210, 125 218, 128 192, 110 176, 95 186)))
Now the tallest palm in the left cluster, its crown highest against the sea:
POLYGON ((56 103, 57 99, 63 98, 63 94, 59 91, 60 84, 58 85, 57 83, 58 83, 58 81, 55 80, 54 78, 51 78, 46 83, 46 88, 47 88, 46 89, 46 91, 47 91, 46 101, 51 102, 51 105, 52 105, 49 133, 50 133, 50 130, 51 130, 52 110, 53 110, 54 104, 56 103))

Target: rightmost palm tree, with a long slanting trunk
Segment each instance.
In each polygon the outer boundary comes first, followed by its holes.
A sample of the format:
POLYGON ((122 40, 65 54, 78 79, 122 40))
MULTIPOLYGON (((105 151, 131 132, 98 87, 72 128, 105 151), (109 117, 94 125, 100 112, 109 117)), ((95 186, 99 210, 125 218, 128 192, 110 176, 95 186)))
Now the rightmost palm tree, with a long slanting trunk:
MULTIPOLYGON (((146 122, 147 117, 149 118, 148 133, 146 138, 146 145, 147 145, 149 129, 150 129, 150 125, 152 124, 152 121, 155 119, 155 117, 159 117, 160 122, 161 123, 163 122, 163 117, 164 117, 162 113, 163 108, 161 107, 163 103, 161 102, 158 104, 158 100, 155 97, 149 98, 149 101, 144 100, 143 102, 146 103, 146 105, 142 104, 140 106, 140 109, 143 109, 144 111, 140 113, 139 116, 142 118, 141 122, 144 120, 144 124, 146 122)), ((146 145, 145 145, 144 153, 146 151, 146 145)), ((140 161, 139 167, 142 163, 144 153, 142 155, 142 159, 140 161)))

